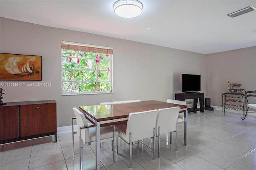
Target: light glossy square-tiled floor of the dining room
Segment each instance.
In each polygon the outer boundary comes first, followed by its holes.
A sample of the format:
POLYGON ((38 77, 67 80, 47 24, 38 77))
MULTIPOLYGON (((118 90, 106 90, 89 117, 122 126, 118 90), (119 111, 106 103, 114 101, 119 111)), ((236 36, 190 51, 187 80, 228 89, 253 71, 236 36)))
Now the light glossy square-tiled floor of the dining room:
MULTIPOLYGON (((117 162, 112 162, 111 142, 101 150, 102 170, 256 170, 256 119, 238 113, 205 111, 188 115, 188 145, 183 144, 183 124, 178 125, 178 151, 175 132, 160 136, 160 158, 152 160, 151 140, 133 146, 129 168, 129 146, 119 140, 117 162)), ((0 145, 0 170, 80 170, 79 140, 72 133, 0 145)), ((156 148, 158 146, 156 140, 156 148)), ((83 170, 95 169, 95 145, 82 149, 83 170)))

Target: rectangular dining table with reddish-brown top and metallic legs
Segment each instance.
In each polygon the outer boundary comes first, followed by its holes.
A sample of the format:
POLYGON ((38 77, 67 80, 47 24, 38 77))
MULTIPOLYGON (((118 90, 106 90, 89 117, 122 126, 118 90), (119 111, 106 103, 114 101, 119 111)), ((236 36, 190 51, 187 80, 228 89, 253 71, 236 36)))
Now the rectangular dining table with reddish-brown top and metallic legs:
POLYGON ((100 127, 126 123, 130 113, 176 106, 180 107, 180 113, 184 113, 184 145, 187 145, 188 111, 186 105, 150 100, 116 105, 80 106, 79 109, 85 117, 96 125, 96 170, 100 169, 100 127))

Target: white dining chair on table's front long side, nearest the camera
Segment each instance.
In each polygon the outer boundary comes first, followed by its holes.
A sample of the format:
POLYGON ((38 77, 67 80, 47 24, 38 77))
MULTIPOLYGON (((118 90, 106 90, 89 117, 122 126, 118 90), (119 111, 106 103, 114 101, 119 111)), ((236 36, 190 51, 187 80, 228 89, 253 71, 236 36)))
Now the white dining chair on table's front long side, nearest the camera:
MULTIPOLYGON (((130 113, 127 125, 116 127, 119 131, 119 137, 130 145, 130 168, 132 167, 132 142, 138 140, 153 138, 156 133, 156 117, 158 110, 130 113)), ((153 159, 155 144, 153 140, 153 159)))

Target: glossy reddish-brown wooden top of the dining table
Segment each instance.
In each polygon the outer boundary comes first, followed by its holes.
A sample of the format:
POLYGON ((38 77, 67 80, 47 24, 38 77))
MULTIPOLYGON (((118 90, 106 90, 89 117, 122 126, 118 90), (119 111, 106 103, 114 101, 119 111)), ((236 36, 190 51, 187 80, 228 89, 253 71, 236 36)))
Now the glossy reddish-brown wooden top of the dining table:
POLYGON ((163 109, 176 106, 180 106, 181 109, 187 107, 186 105, 177 105, 173 103, 150 100, 117 105, 80 106, 79 109, 98 122, 126 118, 130 113, 134 112, 150 111, 154 109, 163 109))

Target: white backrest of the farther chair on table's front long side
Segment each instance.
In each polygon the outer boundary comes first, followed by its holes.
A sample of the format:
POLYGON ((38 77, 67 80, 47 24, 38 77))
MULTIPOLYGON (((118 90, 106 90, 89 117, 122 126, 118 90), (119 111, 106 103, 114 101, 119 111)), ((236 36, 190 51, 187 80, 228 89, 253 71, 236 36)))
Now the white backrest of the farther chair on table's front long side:
POLYGON ((176 123, 178 120, 178 114, 180 112, 180 107, 170 107, 164 109, 158 109, 157 119, 156 119, 156 135, 165 134, 176 130, 176 123), (158 127, 160 127, 160 132, 158 134, 158 127))

